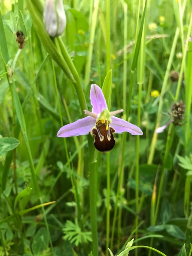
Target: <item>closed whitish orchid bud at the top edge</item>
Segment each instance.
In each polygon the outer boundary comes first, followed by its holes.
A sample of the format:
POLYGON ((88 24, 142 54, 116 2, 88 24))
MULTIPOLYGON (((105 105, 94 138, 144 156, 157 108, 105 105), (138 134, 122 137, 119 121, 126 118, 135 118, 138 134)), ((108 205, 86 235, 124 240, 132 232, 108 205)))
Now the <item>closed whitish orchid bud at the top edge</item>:
POLYGON ((66 15, 62 0, 46 0, 43 21, 50 37, 60 36, 66 27, 66 15))

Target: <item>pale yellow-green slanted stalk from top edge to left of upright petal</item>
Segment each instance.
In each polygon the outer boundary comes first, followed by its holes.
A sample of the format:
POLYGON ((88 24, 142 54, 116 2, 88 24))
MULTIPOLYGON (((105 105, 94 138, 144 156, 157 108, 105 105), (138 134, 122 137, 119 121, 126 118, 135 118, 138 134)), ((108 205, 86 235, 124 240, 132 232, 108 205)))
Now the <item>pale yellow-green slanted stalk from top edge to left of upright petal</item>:
POLYGON ((95 28, 96 28, 97 16, 98 16, 98 6, 99 6, 99 0, 94 0, 94 9, 93 9, 92 22, 91 22, 91 28, 90 28, 90 39, 89 39, 90 42, 88 46, 88 58, 85 66, 85 88, 87 87, 90 81, 91 60, 92 60, 92 53, 93 53, 95 28))

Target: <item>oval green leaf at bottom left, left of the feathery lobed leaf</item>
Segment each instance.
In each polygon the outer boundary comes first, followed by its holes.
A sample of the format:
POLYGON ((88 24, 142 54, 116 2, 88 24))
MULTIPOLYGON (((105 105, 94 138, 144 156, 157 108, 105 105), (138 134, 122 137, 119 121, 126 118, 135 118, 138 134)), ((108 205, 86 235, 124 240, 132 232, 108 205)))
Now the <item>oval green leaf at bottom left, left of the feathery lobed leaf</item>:
POLYGON ((32 250, 35 256, 40 256, 44 250, 48 247, 49 244, 49 236, 46 228, 41 228, 38 230, 36 235, 34 236, 34 240, 32 243, 32 250))

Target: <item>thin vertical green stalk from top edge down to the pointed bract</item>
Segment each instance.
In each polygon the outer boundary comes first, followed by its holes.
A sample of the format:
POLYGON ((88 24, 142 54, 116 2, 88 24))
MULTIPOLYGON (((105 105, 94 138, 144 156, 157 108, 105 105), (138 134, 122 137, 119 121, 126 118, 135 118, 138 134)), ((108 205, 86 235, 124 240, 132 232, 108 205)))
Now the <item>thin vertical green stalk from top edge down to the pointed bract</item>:
POLYGON ((106 73, 109 72, 110 66, 111 66, 111 43, 110 43, 110 33, 111 33, 111 27, 110 27, 110 0, 106 0, 106 73))

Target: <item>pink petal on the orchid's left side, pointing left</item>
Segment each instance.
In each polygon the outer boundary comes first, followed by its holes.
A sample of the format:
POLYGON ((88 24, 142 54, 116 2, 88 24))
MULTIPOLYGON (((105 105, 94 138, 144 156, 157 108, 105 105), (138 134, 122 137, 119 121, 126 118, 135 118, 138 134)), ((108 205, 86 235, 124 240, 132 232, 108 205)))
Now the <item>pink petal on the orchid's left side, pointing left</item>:
POLYGON ((58 131, 58 137, 71 137, 78 135, 86 135, 95 125, 95 119, 91 116, 86 116, 71 124, 64 125, 58 131))

